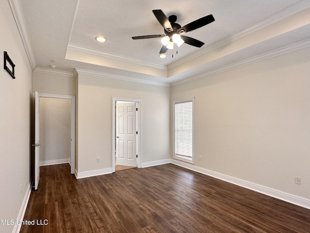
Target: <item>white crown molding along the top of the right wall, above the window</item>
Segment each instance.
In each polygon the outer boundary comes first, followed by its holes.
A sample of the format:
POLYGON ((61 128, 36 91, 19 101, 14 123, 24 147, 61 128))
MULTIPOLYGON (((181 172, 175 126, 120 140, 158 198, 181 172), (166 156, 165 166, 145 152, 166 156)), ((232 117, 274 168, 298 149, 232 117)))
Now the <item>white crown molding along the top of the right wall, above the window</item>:
POLYGON ((223 67, 219 67, 219 68, 216 68, 213 70, 206 71, 203 74, 196 75, 196 76, 193 76, 191 78, 187 78, 187 79, 184 79, 181 81, 171 83, 171 87, 182 85, 182 84, 189 83, 189 82, 193 82, 193 81, 200 80, 203 78, 207 78, 207 77, 210 77, 212 75, 216 75, 216 74, 228 71, 228 70, 232 70, 232 69, 235 69, 238 67, 244 67, 244 66, 256 63, 256 62, 260 62, 260 61, 263 61, 263 60, 266 60, 269 58, 273 58, 276 56, 280 56, 280 55, 283 55, 286 53, 294 52, 296 50, 301 50, 301 49, 304 49, 307 47, 310 47, 310 39, 303 40, 301 42, 297 42, 297 43, 294 43, 292 45, 284 46, 284 47, 276 49, 276 50, 271 50, 271 51, 262 53, 260 55, 241 60, 239 62, 235 62, 235 63, 229 64, 229 65, 223 66, 223 67))

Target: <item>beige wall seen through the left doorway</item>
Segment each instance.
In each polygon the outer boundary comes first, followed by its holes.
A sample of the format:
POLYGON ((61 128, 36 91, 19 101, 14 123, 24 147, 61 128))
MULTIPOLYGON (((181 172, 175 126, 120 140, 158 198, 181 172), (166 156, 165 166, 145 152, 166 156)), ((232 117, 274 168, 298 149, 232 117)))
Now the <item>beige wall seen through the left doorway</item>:
POLYGON ((69 161, 70 140, 71 100, 40 98, 40 162, 69 161))

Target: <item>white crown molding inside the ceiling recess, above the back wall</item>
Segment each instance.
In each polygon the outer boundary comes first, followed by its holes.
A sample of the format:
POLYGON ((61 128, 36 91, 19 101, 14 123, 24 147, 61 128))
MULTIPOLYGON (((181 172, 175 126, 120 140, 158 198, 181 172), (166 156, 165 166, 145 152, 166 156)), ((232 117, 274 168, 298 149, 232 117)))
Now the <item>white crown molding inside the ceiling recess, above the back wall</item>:
POLYGON ((132 57, 122 56, 122 55, 111 53, 111 52, 95 50, 89 47, 80 46, 80 45, 76 45, 72 43, 69 43, 68 49, 79 51, 79 52, 86 52, 86 53, 90 53, 90 54, 97 55, 97 56, 107 57, 107 58, 111 58, 111 59, 115 59, 119 61, 130 62, 130 63, 134 63, 134 64, 146 66, 146 67, 153 67, 156 69, 162 69, 162 70, 167 71, 167 66, 158 65, 155 63, 146 62, 146 61, 142 61, 142 60, 135 59, 132 57))

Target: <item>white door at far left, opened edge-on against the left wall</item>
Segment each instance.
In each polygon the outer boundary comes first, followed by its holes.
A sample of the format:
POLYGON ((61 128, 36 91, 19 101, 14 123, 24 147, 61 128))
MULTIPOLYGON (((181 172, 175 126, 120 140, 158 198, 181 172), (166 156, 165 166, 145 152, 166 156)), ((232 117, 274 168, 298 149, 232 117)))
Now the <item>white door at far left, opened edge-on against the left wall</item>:
POLYGON ((35 92, 35 116, 34 116, 34 189, 38 189, 40 180, 40 97, 35 92))

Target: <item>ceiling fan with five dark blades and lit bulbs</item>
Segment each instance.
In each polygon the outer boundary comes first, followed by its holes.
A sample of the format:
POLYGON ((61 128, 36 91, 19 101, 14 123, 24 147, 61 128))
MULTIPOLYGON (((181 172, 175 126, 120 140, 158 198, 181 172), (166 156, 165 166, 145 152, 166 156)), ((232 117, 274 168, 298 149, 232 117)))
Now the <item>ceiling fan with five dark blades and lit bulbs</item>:
POLYGON ((178 47, 180 47, 183 43, 198 48, 202 47, 204 45, 202 41, 199 41, 197 39, 182 34, 201 28, 215 21, 212 15, 208 15, 181 27, 180 24, 175 22, 177 20, 177 17, 175 15, 172 15, 167 18, 165 14, 162 12, 162 10, 153 10, 153 13, 157 18, 158 22, 164 27, 165 34, 140 35, 140 36, 133 36, 131 38, 137 40, 137 39, 150 39, 161 37, 163 47, 161 48, 159 54, 164 54, 168 49, 173 49, 173 43, 176 43, 178 47))

